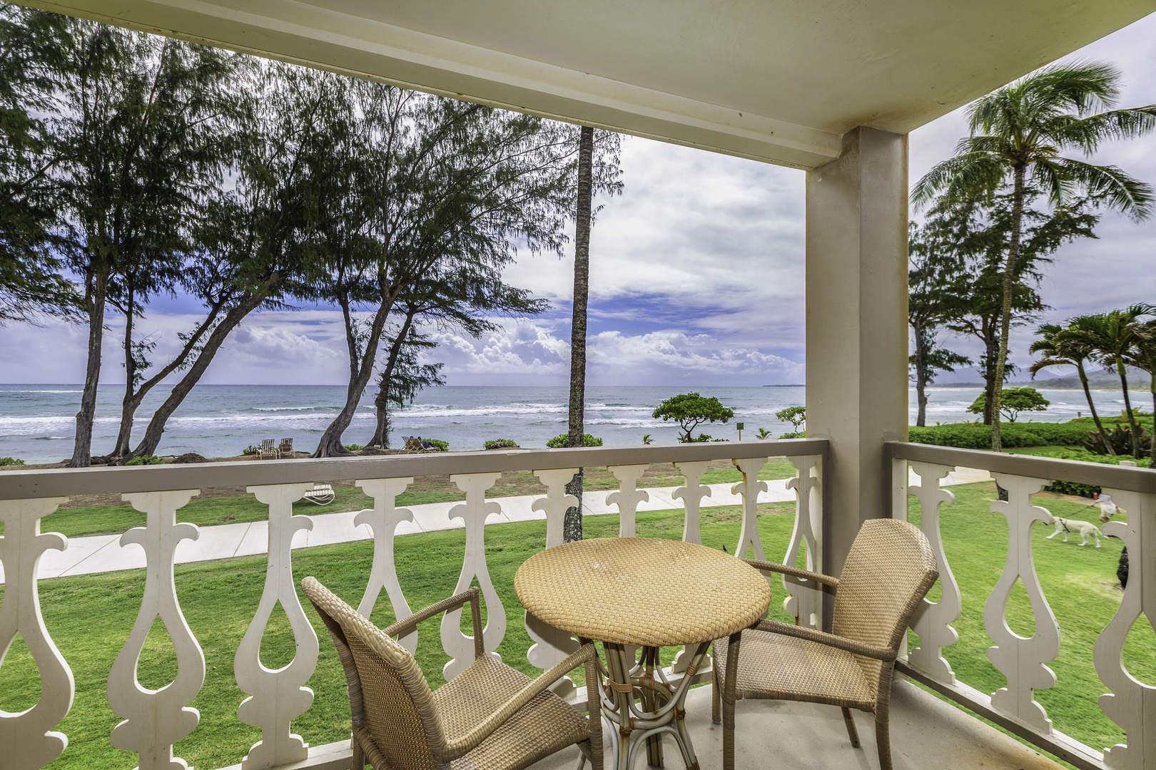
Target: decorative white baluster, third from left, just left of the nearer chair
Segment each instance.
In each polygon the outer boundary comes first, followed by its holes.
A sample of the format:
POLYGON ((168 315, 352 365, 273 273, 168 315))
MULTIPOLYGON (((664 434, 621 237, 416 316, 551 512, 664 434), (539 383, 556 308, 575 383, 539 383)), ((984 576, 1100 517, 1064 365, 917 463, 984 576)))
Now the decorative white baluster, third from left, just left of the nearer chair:
POLYGON ((252 486, 249 492, 269 507, 269 559, 265 570, 265 591, 257 615, 237 648, 234 668, 237 685, 250 697, 242 701, 237 717, 261 728, 261 740, 253 743, 242 770, 261 770, 301 762, 309 756, 309 743, 289 732, 290 722, 313 704, 313 690, 304 687, 317 668, 317 634, 297 598, 292 577, 292 536, 313 529, 309 516, 294 516, 292 503, 313 488, 312 484, 252 486), (277 603, 289 618, 297 651, 289 665, 272 671, 261 664, 261 637, 277 603))

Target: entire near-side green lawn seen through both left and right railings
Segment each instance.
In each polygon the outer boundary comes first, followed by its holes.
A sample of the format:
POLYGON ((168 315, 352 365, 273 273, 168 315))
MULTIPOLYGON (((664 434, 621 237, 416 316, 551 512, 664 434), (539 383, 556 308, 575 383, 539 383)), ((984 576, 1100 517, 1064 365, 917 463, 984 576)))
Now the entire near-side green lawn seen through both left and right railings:
MULTIPOLYGON (((985 655, 990 641, 984 631, 983 606, 1002 569, 1007 528, 1002 516, 987 511, 994 498, 991 484, 955 487, 954 492, 957 504, 944 508, 942 528, 964 606, 955 623, 961 641, 946 655, 961 681, 993 691, 1005 682, 985 655)), ((1091 519, 1091 511, 1081 511, 1079 502, 1046 494, 1039 495, 1039 502, 1057 515, 1091 519)), ((914 499, 912 503, 912 515, 918 521, 914 499)), ((794 506, 776 503, 759 509, 759 531, 768 555, 781 558, 793 525, 794 506)), ((639 536, 681 537, 681 511, 643 513, 637 521, 639 536)), ((587 537, 613 537, 617 523, 616 516, 590 517, 586 519, 587 537)), ((1116 611, 1121 596, 1114 578, 1120 544, 1105 539, 1099 550, 1077 547, 1073 543, 1064 544, 1060 538, 1044 539, 1050 532, 1051 528, 1037 526, 1035 551, 1040 581, 1059 619, 1064 643, 1060 657, 1050 664, 1059 682, 1054 689, 1040 691, 1038 697, 1058 730, 1102 748, 1124 739, 1096 703, 1104 687, 1091 661, 1096 635, 1116 611)), ((711 547, 726 545, 733 550, 739 534, 739 510, 705 509, 702 534, 703 541, 711 547)), ((536 670, 525 657, 531 641, 520 622, 512 583, 517 567, 543 547, 544 523, 489 526, 486 538, 490 575, 509 621, 498 651, 507 663, 533 675, 536 670)), ((410 606, 425 606, 453 591, 464 539, 462 530, 398 539, 399 574, 410 606)), ((356 605, 364 589, 371 548, 370 543, 353 543, 296 551, 295 576, 299 580, 316 575, 356 605)), ((232 658, 260 598, 265 559, 186 565, 177 567, 176 571, 185 614, 205 650, 208 667, 205 687, 193 703, 201 712, 201 725, 177 746, 177 755, 205 769, 232 764, 259 739, 257 728, 236 718, 237 704, 245 696, 234 680, 232 658)), ((76 679, 75 704, 59 727, 68 734, 69 746, 53 768, 127 769, 135 764, 134 755, 116 750, 109 743, 109 733, 119 719, 106 703, 105 680, 135 619, 143 580, 143 570, 132 570, 40 583, 45 623, 73 666, 76 679)), ((936 586, 935 595, 938 591, 936 586)), ((781 600, 783 591, 777 588, 772 615, 781 618, 781 600)), ((333 646, 320 621, 311 610, 307 612, 321 640, 321 656, 310 682, 316 693, 313 708, 294 723, 294 730, 317 745, 347 735, 349 716, 344 680, 333 646)), ((1013 597, 1010 614, 1011 627, 1021 634, 1030 634, 1031 614, 1022 588, 1013 597)), ((373 621, 381 626, 392 621, 384 597, 373 621)), ((437 623, 435 620, 424 625, 418 645, 418 660, 433 686, 442 682, 440 670, 445 661, 437 623)), ((140 666, 140 679, 146 686, 158 687, 171 679, 173 663, 163 629, 154 633, 156 642, 150 638, 148 653, 140 666)), ((269 667, 284 665, 291 650, 288 623, 279 615, 262 642, 262 660, 269 667)), ((673 652, 667 651, 667 657, 673 652)), ((1134 676, 1156 681, 1156 637, 1147 626, 1133 630, 1125 660, 1134 676)), ((576 679, 580 681, 580 676, 576 679)), ((0 668, 0 709, 20 711, 31 705, 38 695, 36 682, 35 667, 17 638, 0 668)))

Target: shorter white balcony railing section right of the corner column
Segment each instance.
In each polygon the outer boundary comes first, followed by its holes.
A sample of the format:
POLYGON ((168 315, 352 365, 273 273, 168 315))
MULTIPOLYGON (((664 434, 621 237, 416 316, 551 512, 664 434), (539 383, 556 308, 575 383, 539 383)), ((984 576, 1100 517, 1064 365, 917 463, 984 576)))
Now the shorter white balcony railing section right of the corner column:
MULTIPOLYGON (((891 515, 906 518, 909 501, 918 500, 920 528, 939 559, 941 586, 940 599, 925 600, 917 613, 912 630, 919 636, 919 646, 901 661, 899 670, 1076 767, 1089 770, 1156 767, 1156 687, 1134 678, 1124 660, 1128 633, 1141 613, 1148 618, 1144 626, 1156 629, 1153 626, 1156 623, 1156 471, 899 442, 888 443, 887 451, 894 471, 891 515), (994 693, 959 681, 948 659, 951 645, 959 638, 951 623, 959 619, 963 607, 956 571, 965 574, 969 568, 966 563, 948 561, 940 530, 943 507, 955 501, 941 483, 957 468, 988 471, 1007 491, 1006 501, 991 504, 992 513, 1007 519, 1008 550, 1002 574, 983 611, 992 643, 987 657, 1007 678, 1007 685, 994 693), (918 484, 909 488, 910 476, 918 484), (1036 571, 1031 537, 1037 522, 1043 526, 1052 524, 1052 514, 1032 495, 1053 480, 1103 487, 1127 511, 1126 521, 1103 526, 1105 536, 1124 540, 1131 571, 1119 608, 1099 631, 1094 646, 1095 671, 1103 689, 1082 694, 1098 700, 1104 713, 1127 735, 1126 743, 1103 752, 1055 730, 1036 700, 1037 690, 1057 683, 1057 674, 1047 664, 1057 658, 1062 644, 1060 625, 1036 571), (1017 582, 1027 590, 1031 604, 1035 621, 1031 636, 1021 636, 1008 625, 1008 600, 1017 582)), ((985 524, 973 523, 977 528, 985 524)))

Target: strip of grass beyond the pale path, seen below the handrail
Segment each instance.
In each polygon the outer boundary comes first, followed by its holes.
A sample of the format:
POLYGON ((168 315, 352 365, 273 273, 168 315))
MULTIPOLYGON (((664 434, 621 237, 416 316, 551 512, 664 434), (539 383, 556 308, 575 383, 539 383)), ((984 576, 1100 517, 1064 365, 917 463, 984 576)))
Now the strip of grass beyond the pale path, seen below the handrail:
MULTIPOLYGON (((719 468, 712 468, 699 479, 702 484, 738 483, 742 480, 742 474, 738 469, 724 468, 724 463, 716 463, 719 468)), ((795 474, 794 465, 785 461, 773 461, 766 463, 758 473, 759 479, 784 479, 795 474)), ((640 487, 665 487, 681 486, 684 479, 669 463, 652 465, 639 481, 640 487)), ((617 479, 605 468, 592 468, 586 470, 585 488, 591 491, 616 489, 617 479)), ((372 508, 373 500, 365 496, 362 491, 351 483, 334 484, 336 499, 325 506, 318 507, 306 500, 294 503, 294 511, 298 514, 328 514, 339 510, 358 510, 361 508, 372 508)), ((492 489, 487 494, 490 498, 523 494, 544 494, 546 488, 528 471, 504 473, 492 489)), ((414 481, 406 492, 398 495, 399 506, 420 506, 429 502, 455 502, 462 500, 462 492, 453 485, 449 477, 423 477, 414 481)), ((213 526, 217 524, 236 524, 239 522, 265 521, 269 510, 249 494, 229 494, 209 496, 202 495, 194 499, 180 509, 178 514, 180 521, 197 524, 198 526, 213 526)), ((83 537, 89 534, 112 534, 124 532, 133 526, 144 525, 144 514, 138 511, 128 503, 121 504, 73 504, 60 508, 55 513, 46 516, 42 524, 45 532, 60 532, 67 537, 83 537)), ((3 533, 3 525, 0 524, 0 534, 3 533)))

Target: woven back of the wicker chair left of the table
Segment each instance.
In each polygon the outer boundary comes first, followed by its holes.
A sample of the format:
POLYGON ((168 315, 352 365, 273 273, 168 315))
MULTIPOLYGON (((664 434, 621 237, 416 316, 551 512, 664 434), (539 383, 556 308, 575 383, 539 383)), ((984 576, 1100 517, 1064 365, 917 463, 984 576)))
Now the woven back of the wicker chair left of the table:
POLYGON ((302 589, 329 629, 346 668, 354 730, 368 730, 394 770, 444 767, 435 757, 444 753, 445 733, 414 657, 314 578, 302 581, 302 589))

